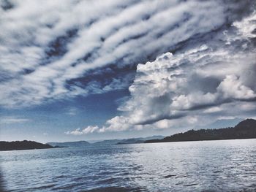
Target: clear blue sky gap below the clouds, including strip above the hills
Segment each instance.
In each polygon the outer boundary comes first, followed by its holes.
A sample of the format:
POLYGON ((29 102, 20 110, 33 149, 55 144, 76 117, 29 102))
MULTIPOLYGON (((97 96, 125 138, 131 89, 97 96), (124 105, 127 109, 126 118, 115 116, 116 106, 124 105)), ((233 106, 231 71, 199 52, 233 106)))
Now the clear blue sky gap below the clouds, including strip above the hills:
MULTIPOLYGON (((129 95, 127 90, 80 97, 22 109, 2 110, 6 122, 1 123, 1 139, 33 139, 39 142, 123 139, 169 134, 170 130, 121 131, 89 135, 67 135, 65 131, 90 125, 104 125, 118 115, 118 104, 129 95), (8 122, 9 120, 9 122, 8 122)), ((4 118, 3 118, 4 119, 4 118)), ((176 131, 175 131, 176 132, 176 131)))

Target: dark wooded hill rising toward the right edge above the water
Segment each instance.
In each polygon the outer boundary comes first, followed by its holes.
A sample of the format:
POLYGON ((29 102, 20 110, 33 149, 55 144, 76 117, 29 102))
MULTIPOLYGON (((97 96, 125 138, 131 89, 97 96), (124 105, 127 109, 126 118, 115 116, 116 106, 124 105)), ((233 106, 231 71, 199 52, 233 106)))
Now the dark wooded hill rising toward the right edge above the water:
POLYGON ((184 133, 173 134, 164 139, 150 139, 147 140, 146 143, 253 138, 256 138, 256 120, 246 119, 238 123, 235 127, 200 130, 192 129, 184 133))

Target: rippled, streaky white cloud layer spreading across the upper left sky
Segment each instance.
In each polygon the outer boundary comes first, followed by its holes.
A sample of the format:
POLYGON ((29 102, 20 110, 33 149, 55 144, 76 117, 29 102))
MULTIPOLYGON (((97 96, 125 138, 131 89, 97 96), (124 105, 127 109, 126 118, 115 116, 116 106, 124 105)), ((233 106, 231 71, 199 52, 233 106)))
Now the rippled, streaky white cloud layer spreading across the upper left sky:
POLYGON ((136 64, 218 31, 250 4, 7 0, 0 7, 0 105, 8 108, 127 88, 136 64))

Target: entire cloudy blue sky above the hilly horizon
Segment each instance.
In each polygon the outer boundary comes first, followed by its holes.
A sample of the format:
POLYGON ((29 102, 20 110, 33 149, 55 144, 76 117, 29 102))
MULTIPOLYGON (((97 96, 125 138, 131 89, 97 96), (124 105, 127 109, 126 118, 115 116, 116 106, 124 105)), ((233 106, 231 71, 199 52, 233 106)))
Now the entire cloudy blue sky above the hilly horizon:
POLYGON ((0 140, 167 136, 256 118, 255 7, 0 1, 0 140))

